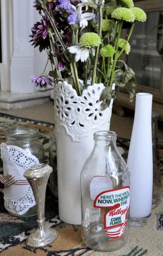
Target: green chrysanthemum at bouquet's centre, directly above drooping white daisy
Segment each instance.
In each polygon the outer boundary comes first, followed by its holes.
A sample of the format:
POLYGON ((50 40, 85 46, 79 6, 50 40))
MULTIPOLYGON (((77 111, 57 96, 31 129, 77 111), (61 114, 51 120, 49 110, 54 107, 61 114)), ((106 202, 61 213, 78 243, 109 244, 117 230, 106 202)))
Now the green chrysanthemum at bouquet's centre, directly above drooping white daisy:
POLYGON ((80 45, 84 47, 96 47, 101 44, 101 38, 99 37, 98 34, 90 32, 90 33, 85 33, 80 37, 80 45))

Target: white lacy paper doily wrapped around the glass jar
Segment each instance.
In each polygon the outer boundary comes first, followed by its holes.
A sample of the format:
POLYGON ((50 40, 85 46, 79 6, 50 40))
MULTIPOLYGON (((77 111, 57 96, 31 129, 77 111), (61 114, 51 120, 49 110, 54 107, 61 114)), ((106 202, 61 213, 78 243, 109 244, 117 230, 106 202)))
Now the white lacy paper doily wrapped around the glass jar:
MULTIPOLYGON (((1 158, 3 160, 4 175, 11 173, 16 180, 26 180, 24 171, 35 164, 39 164, 37 157, 26 153, 18 146, 1 144, 1 158)), ((35 205, 35 198, 30 184, 8 187, 5 195, 5 208, 14 215, 23 215, 35 205)))

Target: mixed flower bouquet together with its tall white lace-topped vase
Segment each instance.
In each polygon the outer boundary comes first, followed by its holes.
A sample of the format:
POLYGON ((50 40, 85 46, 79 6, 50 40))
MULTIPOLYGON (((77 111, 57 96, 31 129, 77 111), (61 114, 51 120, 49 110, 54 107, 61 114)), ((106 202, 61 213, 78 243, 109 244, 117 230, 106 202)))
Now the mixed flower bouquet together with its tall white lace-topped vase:
POLYGON ((131 100, 135 94, 134 72, 120 58, 129 54, 134 24, 145 22, 146 14, 132 0, 110 2, 36 0, 34 5, 41 20, 32 28, 31 41, 46 50, 51 71, 32 81, 40 87, 55 82, 59 215, 72 224, 81 223, 80 171, 92 150, 93 133, 109 129, 120 88, 129 83, 131 100))

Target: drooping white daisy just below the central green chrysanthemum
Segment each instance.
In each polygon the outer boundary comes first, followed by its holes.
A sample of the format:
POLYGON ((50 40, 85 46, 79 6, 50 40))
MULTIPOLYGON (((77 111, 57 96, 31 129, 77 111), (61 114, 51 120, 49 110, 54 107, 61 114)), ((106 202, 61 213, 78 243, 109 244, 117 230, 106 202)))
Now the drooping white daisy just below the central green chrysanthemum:
POLYGON ((83 46, 71 46, 68 48, 69 52, 75 54, 75 61, 77 62, 79 59, 84 62, 89 57, 89 50, 87 47, 83 46))

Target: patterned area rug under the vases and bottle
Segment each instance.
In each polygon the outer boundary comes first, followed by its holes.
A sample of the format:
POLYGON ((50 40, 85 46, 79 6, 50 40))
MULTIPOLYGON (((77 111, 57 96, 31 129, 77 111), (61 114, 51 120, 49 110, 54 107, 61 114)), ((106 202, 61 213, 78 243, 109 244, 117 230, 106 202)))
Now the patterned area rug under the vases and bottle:
MULTIPOLYGON (((53 129, 52 123, 18 118, 0 113, 0 143, 5 141, 5 131, 8 127, 33 126, 39 129, 40 140, 44 146, 44 162, 48 163, 48 142, 53 129)), ((125 150, 123 157, 127 158, 129 141, 118 138, 118 145, 125 150)), ((163 156, 163 146, 160 145, 160 155, 163 156)), ((0 173, 3 171, 0 163, 0 173)), ((17 218, 8 214, 4 208, 3 194, 0 193, 0 253, 2 256, 31 255, 112 255, 112 256, 162 256, 163 241, 163 206, 160 204, 152 211, 148 224, 144 227, 131 227, 130 239, 127 244, 116 252, 100 253, 86 247, 81 237, 80 226, 63 223, 58 217, 58 201, 53 197, 49 187, 46 191, 45 205, 46 221, 58 230, 58 239, 51 245, 32 249, 25 244, 26 238, 37 226, 37 218, 17 218)))

